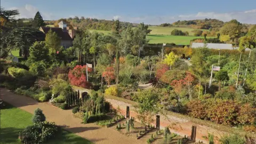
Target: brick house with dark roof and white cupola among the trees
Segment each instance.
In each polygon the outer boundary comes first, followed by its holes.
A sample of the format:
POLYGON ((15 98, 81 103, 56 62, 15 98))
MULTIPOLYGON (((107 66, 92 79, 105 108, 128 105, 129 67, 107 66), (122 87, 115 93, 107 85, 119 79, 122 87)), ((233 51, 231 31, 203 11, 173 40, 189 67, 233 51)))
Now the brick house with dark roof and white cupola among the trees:
POLYGON ((51 29, 61 38, 61 46, 64 48, 68 48, 73 45, 73 38, 76 34, 77 27, 69 28, 67 27, 67 23, 61 21, 58 23, 59 27, 40 27, 39 30, 44 34, 47 34, 51 29))

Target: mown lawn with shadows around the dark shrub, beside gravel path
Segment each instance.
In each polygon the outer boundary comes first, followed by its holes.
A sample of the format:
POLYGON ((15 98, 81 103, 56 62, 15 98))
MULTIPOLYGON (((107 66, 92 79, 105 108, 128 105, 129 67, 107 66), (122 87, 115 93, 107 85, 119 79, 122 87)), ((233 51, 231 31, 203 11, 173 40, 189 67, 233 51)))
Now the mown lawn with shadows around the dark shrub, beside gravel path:
MULTIPOLYGON (((1 109, 0 117, 0 143, 20 143, 19 132, 32 124, 32 114, 15 108, 6 103, 5 109, 1 109)), ((62 130, 56 137, 47 143, 92 143, 77 136, 74 133, 62 130)))

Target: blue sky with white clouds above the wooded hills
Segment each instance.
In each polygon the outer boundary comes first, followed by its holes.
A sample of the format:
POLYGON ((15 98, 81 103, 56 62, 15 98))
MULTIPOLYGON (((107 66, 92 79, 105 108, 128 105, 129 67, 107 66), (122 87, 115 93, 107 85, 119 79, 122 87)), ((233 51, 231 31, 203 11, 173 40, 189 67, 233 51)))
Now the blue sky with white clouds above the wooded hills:
POLYGON ((237 19, 256 24, 256 0, 0 0, 6 10, 18 9, 18 18, 34 18, 39 11, 44 20, 69 17, 119 19, 159 25, 178 20, 237 19))

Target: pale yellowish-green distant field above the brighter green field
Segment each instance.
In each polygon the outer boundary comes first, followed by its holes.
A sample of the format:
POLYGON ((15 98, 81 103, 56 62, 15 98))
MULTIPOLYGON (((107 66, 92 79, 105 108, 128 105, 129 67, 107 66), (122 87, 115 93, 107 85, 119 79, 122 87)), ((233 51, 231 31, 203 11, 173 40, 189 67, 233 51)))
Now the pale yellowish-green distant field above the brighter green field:
MULTIPOLYGON (((178 29, 182 30, 183 32, 188 31, 190 36, 193 36, 193 28, 181 28, 181 27, 158 27, 158 26, 149 26, 148 29, 151 29, 150 31, 151 35, 171 35, 172 30, 178 29)), ((199 29, 205 31, 205 29, 199 29)))

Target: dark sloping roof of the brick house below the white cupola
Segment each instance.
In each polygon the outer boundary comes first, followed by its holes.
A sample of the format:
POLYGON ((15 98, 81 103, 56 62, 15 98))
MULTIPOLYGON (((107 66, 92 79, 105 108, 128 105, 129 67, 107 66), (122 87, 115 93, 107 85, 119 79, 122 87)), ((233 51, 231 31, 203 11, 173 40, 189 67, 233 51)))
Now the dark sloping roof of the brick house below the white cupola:
POLYGON ((41 28, 45 34, 47 34, 48 31, 51 29, 61 38, 61 40, 72 41, 72 38, 69 36, 68 32, 63 31, 62 28, 53 28, 53 27, 41 27, 41 28))

